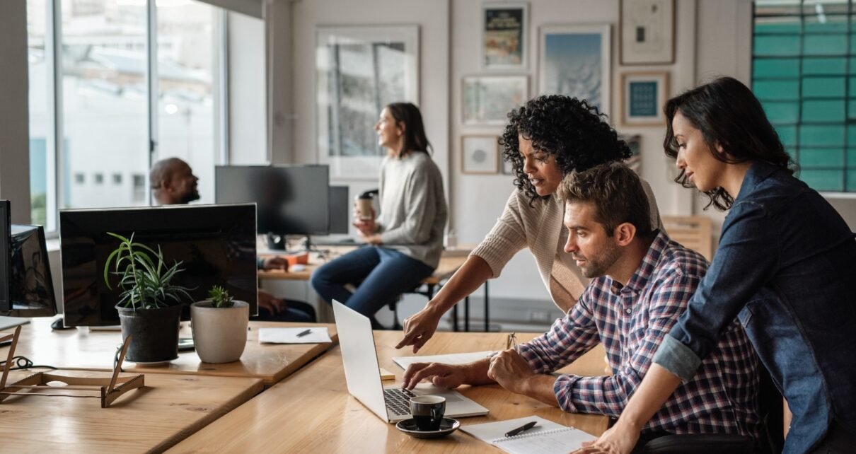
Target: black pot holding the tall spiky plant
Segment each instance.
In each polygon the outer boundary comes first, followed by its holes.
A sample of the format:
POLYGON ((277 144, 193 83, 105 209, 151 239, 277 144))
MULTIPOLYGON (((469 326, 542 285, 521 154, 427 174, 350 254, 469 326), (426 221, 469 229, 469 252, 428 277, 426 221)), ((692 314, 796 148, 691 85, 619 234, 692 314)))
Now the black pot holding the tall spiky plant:
POLYGON ((125 359, 132 363, 163 363, 178 357, 181 306, 116 309, 122 324, 122 340, 133 336, 125 359))

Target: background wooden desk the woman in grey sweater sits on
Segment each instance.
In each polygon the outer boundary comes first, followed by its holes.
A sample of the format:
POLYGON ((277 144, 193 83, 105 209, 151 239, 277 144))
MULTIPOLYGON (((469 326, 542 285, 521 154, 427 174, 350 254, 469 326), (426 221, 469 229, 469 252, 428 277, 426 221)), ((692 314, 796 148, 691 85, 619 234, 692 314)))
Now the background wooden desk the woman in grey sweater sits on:
MULTIPOLYGON (((340 256, 342 254, 348 253, 349 251, 354 251, 358 246, 328 246, 324 247, 325 251, 329 251, 328 258, 326 260, 332 260, 336 258, 336 256, 340 256)), ((419 292, 421 295, 425 295, 429 300, 434 298, 434 291, 437 289, 437 286, 441 285, 443 281, 449 280, 452 277, 452 274, 455 274, 455 271, 458 268, 463 266, 464 262, 467 262, 467 257, 469 256, 469 252, 472 251, 473 248, 461 248, 453 251, 443 251, 443 255, 440 256, 440 263, 437 264, 437 268, 434 270, 434 273, 431 276, 422 280, 422 284, 428 287, 427 292, 419 292)), ((276 255, 272 253, 263 253, 260 256, 270 256, 276 255)), ((306 265, 306 268, 300 271, 282 271, 280 269, 270 270, 270 271, 262 271, 259 270, 259 279, 269 279, 269 280, 309 280, 312 276, 312 273, 315 272, 318 267, 324 264, 324 259, 318 257, 318 254, 310 254, 309 264, 306 265)), ((396 320, 397 324, 398 321, 396 320)), ((397 325, 396 325, 397 326, 397 325)), ((458 305, 452 308, 452 327, 455 331, 458 331, 458 305)), ((464 331, 470 330, 470 297, 467 296, 464 298, 464 331)), ((490 330, 490 280, 484 281, 484 331, 490 330)))

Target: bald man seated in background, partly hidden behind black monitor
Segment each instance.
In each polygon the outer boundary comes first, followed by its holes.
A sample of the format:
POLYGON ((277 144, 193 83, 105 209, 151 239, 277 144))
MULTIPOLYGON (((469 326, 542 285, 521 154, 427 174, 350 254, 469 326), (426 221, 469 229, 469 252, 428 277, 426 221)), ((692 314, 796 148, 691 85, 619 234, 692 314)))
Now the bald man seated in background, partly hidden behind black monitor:
MULTIPOLYGON (((149 173, 152 183, 152 198, 158 205, 183 205, 199 200, 197 183, 199 177, 187 162, 177 157, 169 157, 155 162, 149 173)), ((259 269, 288 268, 288 262, 282 257, 259 257, 259 269)), ((259 290, 259 321, 298 321, 315 322, 315 310, 300 301, 276 298, 264 290, 259 290)))

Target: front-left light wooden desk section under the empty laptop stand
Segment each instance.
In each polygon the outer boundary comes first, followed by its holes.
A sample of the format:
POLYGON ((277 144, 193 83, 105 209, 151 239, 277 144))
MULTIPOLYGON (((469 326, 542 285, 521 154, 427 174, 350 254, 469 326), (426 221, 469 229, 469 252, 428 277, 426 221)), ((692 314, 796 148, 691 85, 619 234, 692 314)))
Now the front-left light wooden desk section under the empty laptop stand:
MULTIPOLYGON (((10 376, 18 380, 26 374, 10 376)), ((259 379, 146 374, 146 386, 128 392, 106 409, 100 408, 97 398, 10 396, 0 404, 0 451, 160 452, 247 402, 262 388, 259 379)))

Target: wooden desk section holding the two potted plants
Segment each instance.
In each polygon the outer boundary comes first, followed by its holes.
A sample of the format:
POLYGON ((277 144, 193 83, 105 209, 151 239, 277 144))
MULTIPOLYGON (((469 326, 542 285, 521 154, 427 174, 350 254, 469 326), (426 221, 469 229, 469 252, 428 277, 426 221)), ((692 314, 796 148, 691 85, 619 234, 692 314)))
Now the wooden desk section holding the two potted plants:
MULTIPOLYGON (((86 332, 83 330, 51 331, 51 320, 33 319, 29 325, 21 328, 21 339, 15 355, 30 358, 35 364, 48 365, 62 369, 113 368, 113 354, 116 346, 122 343, 122 333, 117 331, 86 332)), ((181 337, 192 337, 187 323, 181 328, 181 337)), ((222 377, 252 377, 264 381, 270 386, 282 380, 304 364, 312 361, 331 346, 339 337, 336 325, 318 323, 330 331, 332 344, 259 344, 259 327, 306 327, 308 323, 281 323, 275 321, 250 321, 247 333, 247 348, 241 355, 241 361, 235 363, 202 363, 195 351, 180 351, 178 359, 168 365, 146 367, 125 362, 122 369, 140 373, 158 374, 199 374, 222 377)), ((0 349, 5 357, 9 347, 0 349)))

